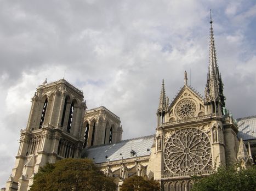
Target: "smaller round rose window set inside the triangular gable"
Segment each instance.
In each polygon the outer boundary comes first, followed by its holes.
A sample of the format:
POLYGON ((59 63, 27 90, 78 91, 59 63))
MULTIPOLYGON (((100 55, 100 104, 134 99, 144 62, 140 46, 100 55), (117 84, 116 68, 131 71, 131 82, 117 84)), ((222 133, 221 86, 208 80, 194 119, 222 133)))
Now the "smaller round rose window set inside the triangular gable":
POLYGON ((196 103, 191 99, 181 100, 176 108, 175 112, 179 118, 195 117, 196 103))

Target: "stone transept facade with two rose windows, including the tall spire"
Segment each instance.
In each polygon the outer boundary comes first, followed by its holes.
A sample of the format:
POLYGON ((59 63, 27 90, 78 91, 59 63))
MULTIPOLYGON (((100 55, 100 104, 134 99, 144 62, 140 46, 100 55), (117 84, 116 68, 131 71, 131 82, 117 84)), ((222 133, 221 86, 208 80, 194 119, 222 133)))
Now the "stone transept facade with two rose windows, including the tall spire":
POLYGON ((184 86, 169 104, 162 82, 149 166, 164 190, 189 191, 191 175, 208 175, 236 161, 238 130, 225 109, 212 23, 211 18, 205 97, 187 85, 185 71, 184 86))

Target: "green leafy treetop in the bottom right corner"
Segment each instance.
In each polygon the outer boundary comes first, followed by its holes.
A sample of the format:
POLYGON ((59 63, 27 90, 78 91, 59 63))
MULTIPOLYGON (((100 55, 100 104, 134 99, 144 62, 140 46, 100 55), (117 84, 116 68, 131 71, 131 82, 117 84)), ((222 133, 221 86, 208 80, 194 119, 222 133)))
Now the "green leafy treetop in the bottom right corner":
POLYGON ((241 166, 220 167, 217 172, 205 177, 194 177, 192 191, 255 191, 256 167, 243 169, 241 166), (237 170, 239 169, 239 170, 237 170))

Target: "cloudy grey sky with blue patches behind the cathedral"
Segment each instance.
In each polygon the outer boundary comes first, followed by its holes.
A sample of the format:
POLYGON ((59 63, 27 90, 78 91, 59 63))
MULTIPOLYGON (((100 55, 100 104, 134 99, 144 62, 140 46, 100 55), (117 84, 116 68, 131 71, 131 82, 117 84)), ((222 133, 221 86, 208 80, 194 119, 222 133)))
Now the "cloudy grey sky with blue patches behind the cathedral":
POLYGON ((120 116, 123 139, 155 133, 162 79, 172 100, 187 70, 203 94, 210 9, 227 108, 235 118, 255 115, 255 1, 0 0, 0 185, 45 77, 65 77, 88 109, 120 116))

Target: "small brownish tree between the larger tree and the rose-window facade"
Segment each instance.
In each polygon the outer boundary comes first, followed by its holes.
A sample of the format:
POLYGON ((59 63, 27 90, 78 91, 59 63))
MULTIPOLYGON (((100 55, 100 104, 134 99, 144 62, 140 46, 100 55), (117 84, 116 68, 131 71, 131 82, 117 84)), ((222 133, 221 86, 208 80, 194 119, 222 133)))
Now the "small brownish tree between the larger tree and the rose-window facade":
POLYGON ((144 180, 141 176, 131 176, 123 181, 121 191, 158 191, 160 184, 157 181, 144 180))

